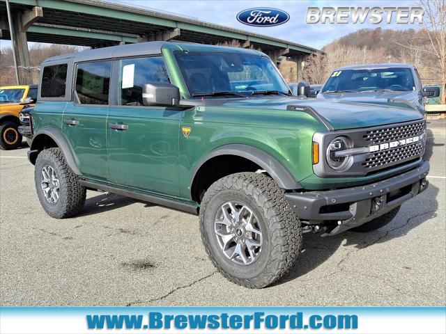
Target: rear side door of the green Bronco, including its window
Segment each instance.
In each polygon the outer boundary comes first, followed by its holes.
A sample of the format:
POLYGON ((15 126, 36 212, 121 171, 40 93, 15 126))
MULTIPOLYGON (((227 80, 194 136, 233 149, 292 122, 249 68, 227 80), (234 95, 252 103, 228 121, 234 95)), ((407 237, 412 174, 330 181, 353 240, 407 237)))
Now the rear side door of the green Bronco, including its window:
POLYGON ((62 131, 87 178, 107 180, 107 114, 112 61, 78 63, 73 102, 63 113, 62 131))

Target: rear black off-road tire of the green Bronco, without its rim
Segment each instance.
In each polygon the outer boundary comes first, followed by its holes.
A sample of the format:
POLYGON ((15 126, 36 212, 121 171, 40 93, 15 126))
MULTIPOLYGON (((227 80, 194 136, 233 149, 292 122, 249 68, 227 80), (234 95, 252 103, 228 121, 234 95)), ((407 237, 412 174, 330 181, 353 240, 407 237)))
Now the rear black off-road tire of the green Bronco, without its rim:
POLYGON ((34 169, 34 180, 40 204, 49 216, 53 218, 68 218, 79 213, 84 207, 86 189, 79 184, 79 176, 72 172, 63 157, 60 148, 49 148, 39 153, 34 169), (41 188, 42 168, 50 166, 59 177, 59 200, 49 203, 41 188))

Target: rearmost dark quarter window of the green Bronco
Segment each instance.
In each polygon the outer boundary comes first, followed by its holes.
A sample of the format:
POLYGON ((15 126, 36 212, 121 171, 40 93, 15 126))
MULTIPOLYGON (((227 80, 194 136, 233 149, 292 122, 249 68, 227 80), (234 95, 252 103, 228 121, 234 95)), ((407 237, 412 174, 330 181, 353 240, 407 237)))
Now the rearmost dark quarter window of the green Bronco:
POLYGON ((41 97, 65 97, 67 64, 43 67, 41 97))

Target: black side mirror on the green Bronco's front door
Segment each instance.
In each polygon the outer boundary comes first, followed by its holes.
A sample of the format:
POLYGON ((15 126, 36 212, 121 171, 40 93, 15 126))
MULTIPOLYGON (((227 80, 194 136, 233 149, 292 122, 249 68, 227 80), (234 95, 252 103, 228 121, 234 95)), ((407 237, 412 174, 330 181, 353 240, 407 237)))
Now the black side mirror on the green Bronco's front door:
POLYGON ((166 82, 145 84, 142 88, 144 106, 174 106, 180 101, 180 90, 166 82))

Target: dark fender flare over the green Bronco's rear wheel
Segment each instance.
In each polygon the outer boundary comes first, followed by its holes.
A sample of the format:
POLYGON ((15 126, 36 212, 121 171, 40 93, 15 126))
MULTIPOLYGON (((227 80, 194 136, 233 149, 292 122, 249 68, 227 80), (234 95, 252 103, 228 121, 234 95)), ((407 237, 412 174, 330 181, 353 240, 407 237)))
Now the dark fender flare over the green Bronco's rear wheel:
POLYGON ((38 150, 39 138, 42 138, 43 136, 49 136, 52 138, 54 143, 56 143, 56 145, 61 149, 63 157, 65 157, 65 160, 73 173, 76 175, 82 175, 81 170, 79 169, 79 160, 72 152, 70 143, 68 143, 67 138, 62 134, 62 132, 59 129, 54 129, 54 127, 44 127, 33 135, 33 142, 31 143, 31 148, 28 151, 28 159, 31 164, 36 163, 37 156, 40 152, 40 150, 38 150))

